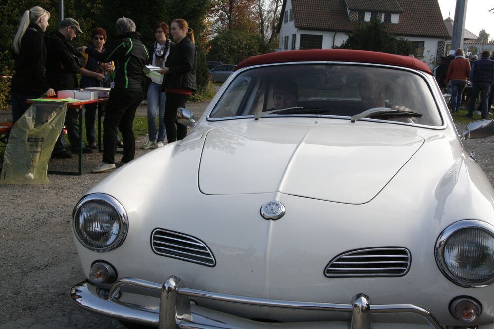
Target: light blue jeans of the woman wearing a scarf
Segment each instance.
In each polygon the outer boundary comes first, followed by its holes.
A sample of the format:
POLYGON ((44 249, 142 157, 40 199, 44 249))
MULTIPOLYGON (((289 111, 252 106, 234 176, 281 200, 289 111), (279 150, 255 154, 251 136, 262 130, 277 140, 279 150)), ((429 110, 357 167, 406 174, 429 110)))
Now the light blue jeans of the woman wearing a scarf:
POLYGON ((161 84, 151 82, 148 88, 148 135, 149 140, 156 141, 156 115, 160 115, 158 142, 165 141, 166 130, 163 117, 165 115, 166 94, 161 91, 161 84))

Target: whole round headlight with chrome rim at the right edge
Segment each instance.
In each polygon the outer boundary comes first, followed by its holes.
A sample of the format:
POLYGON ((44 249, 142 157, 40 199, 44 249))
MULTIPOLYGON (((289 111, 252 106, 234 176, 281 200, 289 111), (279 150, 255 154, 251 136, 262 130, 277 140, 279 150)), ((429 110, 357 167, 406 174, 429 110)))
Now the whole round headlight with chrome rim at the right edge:
POLYGON ((494 226, 462 220, 448 226, 436 242, 436 262, 443 274, 462 287, 494 281, 494 226))

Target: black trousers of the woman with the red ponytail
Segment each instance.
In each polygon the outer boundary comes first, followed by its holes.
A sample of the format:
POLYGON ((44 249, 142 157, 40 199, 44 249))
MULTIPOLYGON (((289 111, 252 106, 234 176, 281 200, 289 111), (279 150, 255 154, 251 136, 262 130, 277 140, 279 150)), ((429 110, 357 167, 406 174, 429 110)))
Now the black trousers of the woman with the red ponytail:
POLYGON ((163 121, 165 123, 168 144, 182 140, 187 136, 187 126, 177 122, 177 110, 179 107, 185 107, 185 103, 187 103, 189 98, 190 95, 175 94, 173 92, 166 93, 165 116, 163 117, 163 121))

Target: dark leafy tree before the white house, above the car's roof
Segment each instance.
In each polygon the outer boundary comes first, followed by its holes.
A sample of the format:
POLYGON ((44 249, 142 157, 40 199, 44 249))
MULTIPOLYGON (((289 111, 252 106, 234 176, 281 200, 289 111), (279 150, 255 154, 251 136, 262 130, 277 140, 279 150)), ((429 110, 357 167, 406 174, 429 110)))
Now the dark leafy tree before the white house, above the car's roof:
POLYGON ((385 23, 376 18, 371 19, 371 22, 360 22, 357 29, 348 34, 348 39, 335 48, 380 51, 398 55, 409 55, 413 51, 408 41, 396 37, 387 29, 385 23))

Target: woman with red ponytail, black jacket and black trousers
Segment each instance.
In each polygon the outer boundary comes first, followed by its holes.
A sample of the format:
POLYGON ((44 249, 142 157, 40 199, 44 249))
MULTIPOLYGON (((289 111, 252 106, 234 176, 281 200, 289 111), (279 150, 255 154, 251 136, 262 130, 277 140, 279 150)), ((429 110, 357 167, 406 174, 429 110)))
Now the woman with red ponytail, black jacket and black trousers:
POLYGON ((196 47, 194 31, 183 19, 171 22, 171 37, 175 45, 171 47, 162 72, 163 89, 166 92, 165 128, 168 143, 187 136, 187 127, 177 122, 177 109, 184 107, 196 91, 196 47))

